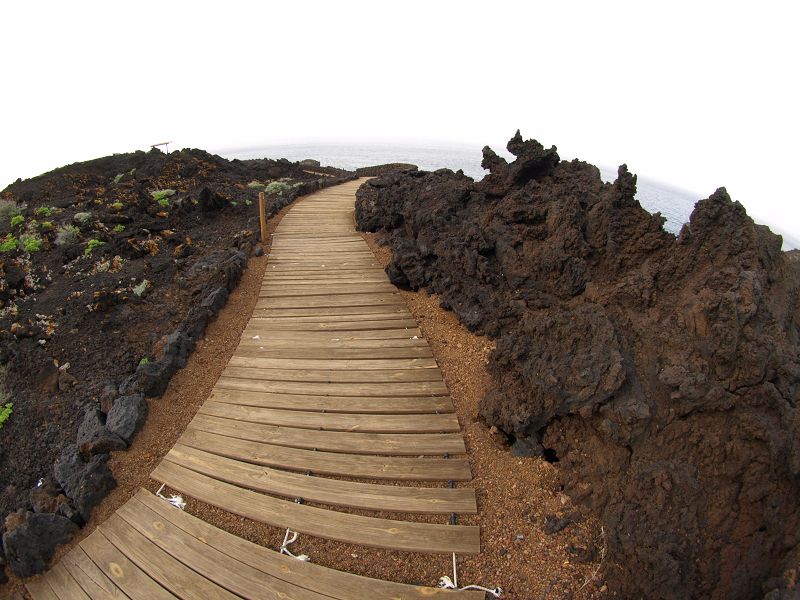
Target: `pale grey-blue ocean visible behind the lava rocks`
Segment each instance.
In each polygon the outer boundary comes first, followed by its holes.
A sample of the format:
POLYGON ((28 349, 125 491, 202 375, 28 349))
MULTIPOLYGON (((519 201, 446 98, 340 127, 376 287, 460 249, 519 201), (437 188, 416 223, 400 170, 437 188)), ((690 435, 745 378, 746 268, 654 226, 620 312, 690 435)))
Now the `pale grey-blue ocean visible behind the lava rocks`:
MULTIPOLYGON (((505 148, 492 147, 495 152, 507 160, 513 156, 505 148)), ((311 158, 325 166, 341 169, 356 169, 393 162, 412 163, 425 171, 448 168, 454 171, 461 169, 476 181, 486 174, 481 168, 481 148, 460 145, 411 146, 398 144, 282 144, 255 148, 239 148, 217 152, 225 158, 286 158, 291 161, 311 158)), ((562 157, 564 158, 564 157, 562 157)), ((616 167, 598 165, 604 181, 617 178, 616 167)), ((634 171, 635 172, 635 171, 634 171)), ((660 212, 665 218, 664 229, 677 234, 694 209, 700 196, 668 184, 638 175, 636 199, 651 213, 660 212)), ((795 240, 784 236, 784 250, 797 248, 795 240)))

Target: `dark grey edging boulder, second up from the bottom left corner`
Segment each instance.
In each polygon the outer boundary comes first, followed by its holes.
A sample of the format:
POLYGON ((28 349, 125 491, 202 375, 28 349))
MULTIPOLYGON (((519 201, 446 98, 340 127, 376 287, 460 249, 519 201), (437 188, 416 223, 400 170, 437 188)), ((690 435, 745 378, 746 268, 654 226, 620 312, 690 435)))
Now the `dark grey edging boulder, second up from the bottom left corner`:
POLYGON ((107 454, 97 454, 88 461, 77 446, 67 446, 53 466, 53 474, 64 493, 72 499, 84 521, 105 495, 117 485, 106 461, 107 454))

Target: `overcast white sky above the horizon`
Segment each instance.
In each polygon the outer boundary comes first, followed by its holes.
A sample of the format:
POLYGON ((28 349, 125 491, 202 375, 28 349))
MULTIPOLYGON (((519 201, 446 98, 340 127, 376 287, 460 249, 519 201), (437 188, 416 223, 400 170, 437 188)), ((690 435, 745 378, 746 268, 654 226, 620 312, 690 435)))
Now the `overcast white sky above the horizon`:
POLYGON ((800 233, 794 2, 3 2, 0 188, 113 152, 502 145, 800 233))

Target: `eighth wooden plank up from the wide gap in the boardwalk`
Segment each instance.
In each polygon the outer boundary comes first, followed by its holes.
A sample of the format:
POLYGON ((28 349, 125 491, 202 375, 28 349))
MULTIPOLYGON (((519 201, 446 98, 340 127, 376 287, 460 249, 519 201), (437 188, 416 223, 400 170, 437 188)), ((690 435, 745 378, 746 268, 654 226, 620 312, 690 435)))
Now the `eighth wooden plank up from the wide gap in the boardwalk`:
MULTIPOLYGON (((339 369, 261 369, 228 366, 222 372, 222 375, 225 377, 237 377, 239 379, 309 383, 397 382, 428 385, 430 383, 442 381, 442 374, 439 372, 439 369, 368 369, 361 371, 342 371, 339 369)), ((425 393, 428 392, 427 388, 422 391, 425 393)))

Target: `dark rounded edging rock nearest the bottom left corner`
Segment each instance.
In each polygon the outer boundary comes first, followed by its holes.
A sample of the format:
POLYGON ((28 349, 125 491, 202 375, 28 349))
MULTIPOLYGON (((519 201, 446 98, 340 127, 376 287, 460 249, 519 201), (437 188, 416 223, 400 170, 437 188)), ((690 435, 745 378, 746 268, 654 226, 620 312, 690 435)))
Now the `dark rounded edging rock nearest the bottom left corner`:
POLYGON ((3 534, 3 551, 17 577, 41 573, 56 547, 70 540, 77 525, 59 515, 26 512, 22 522, 3 534))

